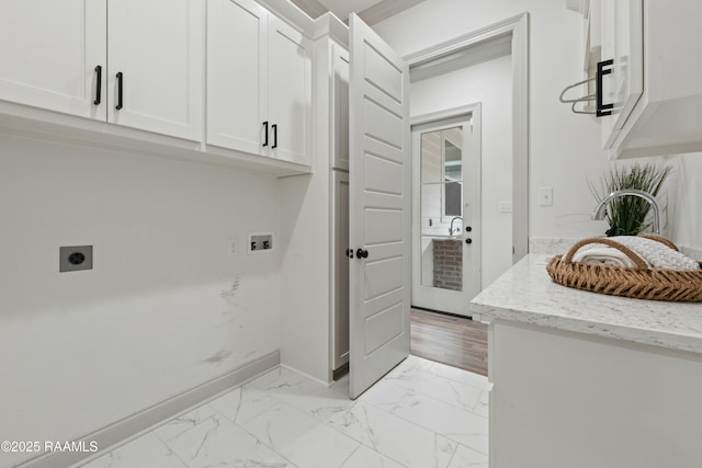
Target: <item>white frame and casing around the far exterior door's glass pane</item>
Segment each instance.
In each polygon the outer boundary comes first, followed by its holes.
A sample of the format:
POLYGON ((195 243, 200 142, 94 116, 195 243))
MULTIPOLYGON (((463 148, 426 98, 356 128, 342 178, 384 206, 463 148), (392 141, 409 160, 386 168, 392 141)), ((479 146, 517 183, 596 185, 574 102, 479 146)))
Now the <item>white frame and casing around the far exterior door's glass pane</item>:
MULTIPOLYGON (((440 308, 442 311, 458 313, 462 316, 468 316, 468 303, 472 297, 467 297, 466 295, 474 290, 475 294, 480 292, 480 273, 482 273, 482 255, 480 255, 480 161, 482 161, 482 105, 480 103, 468 104, 461 107, 454 107, 445 111, 432 112, 429 114, 419 115, 417 117, 410 118, 410 132, 412 135, 412 253, 411 253, 411 263, 412 263, 412 287, 411 287, 411 296, 412 296, 412 306, 426 307, 424 304, 442 304, 440 308), (467 275, 467 277, 472 278, 473 284, 468 284, 469 279, 466 279, 466 275, 463 275, 463 289, 460 292, 441 289, 433 286, 423 286, 421 284, 421 145, 419 142, 419 138, 416 138, 415 132, 421 132, 422 126, 431 126, 431 129, 428 128, 429 132, 439 130, 441 128, 448 128, 456 126, 461 123, 465 123, 468 118, 472 119, 472 136, 468 137, 468 144, 464 144, 462 148, 463 151, 463 167, 464 170, 466 168, 474 168, 475 171, 472 173, 471 180, 467 180, 464 176, 463 187, 466 187, 466 183, 469 184, 471 190, 473 191, 472 195, 467 198, 472 199, 473 204, 469 207, 466 207, 466 204, 463 203, 463 219, 461 228, 461 241, 462 241, 462 264, 465 272, 465 265, 476 264, 477 271, 475 275, 467 275), (432 125, 435 124, 435 125, 432 125), (417 128, 420 127, 420 128, 417 128), (435 128, 434 128, 435 127, 435 128), (475 158, 473 164, 466 164, 466 160, 468 158, 475 158), (469 216, 466 216, 466 208, 471 209, 469 216), (466 219, 473 226, 477 226, 471 232, 469 237, 474 240, 472 243, 471 250, 466 249, 463 246, 463 240, 466 239, 466 232, 463 229, 463 226, 466 226, 466 219), (422 296, 424 300, 420 300, 419 296, 422 296), (418 300, 419 299, 419 300, 418 300)), ((466 136, 464 136, 464 141, 466 140, 466 136)), ((465 172, 464 172, 465 173, 465 172)), ((464 193, 465 195, 465 193, 464 193)), ((466 198, 464 198, 466 199, 466 198)), ((437 308, 437 306, 431 307, 437 308)))

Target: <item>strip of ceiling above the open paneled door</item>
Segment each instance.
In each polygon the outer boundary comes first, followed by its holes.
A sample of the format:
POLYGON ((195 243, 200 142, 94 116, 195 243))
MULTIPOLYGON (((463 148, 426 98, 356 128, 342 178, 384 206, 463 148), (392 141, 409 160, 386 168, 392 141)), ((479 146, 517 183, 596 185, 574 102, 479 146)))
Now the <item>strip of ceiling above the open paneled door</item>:
POLYGON ((291 0, 312 18, 317 18, 331 11, 342 21, 349 14, 358 13, 369 24, 377 23, 422 0, 291 0))

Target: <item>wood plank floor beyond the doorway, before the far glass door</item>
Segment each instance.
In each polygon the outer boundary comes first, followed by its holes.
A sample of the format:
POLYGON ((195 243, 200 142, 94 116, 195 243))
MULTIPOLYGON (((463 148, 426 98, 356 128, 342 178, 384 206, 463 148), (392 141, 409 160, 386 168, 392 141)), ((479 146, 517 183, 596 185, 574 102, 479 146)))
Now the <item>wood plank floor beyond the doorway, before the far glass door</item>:
POLYGON ((487 376, 487 326, 411 309, 410 353, 487 376))

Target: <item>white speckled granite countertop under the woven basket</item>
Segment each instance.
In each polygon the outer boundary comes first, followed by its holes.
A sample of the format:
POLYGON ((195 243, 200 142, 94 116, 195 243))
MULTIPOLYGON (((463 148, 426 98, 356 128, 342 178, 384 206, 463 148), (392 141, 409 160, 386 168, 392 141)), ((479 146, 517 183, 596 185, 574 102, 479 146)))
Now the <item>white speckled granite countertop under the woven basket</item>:
POLYGON ((702 354, 702 303, 630 299, 551 281, 551 255, 531 253, 471 301, 469 311, 702 354))

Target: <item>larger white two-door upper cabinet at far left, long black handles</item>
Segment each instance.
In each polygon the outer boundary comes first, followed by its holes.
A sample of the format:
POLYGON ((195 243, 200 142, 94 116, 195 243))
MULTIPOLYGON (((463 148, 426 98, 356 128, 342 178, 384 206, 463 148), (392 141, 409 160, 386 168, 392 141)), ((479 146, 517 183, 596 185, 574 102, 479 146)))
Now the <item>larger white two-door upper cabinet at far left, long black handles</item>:
POLYGON ((202 0, 22 0, 0 15, 0 99, 200 140, 202 0))

